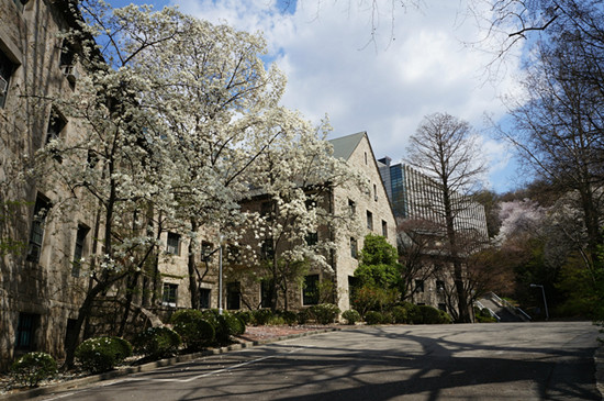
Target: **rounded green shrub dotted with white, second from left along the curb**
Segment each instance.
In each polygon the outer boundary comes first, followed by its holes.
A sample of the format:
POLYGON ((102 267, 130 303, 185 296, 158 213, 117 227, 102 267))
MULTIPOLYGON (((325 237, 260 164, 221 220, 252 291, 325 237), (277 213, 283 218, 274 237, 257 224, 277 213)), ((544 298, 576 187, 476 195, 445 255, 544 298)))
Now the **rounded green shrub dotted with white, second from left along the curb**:
POLYGON ((132 345, 120 337, 88 338, 76 348, 76 359, 92 372, 100 374, 113 369, 132 355, 132 345))

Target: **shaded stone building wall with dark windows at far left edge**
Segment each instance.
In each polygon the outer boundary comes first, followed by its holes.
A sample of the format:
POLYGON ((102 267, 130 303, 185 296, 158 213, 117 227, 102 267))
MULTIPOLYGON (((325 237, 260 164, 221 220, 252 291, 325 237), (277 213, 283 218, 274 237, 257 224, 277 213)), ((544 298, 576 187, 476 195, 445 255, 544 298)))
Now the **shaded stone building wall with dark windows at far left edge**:
POLYGON ((79 260, 94 222, 56 212, 65 188, 44 176, 20 180, 48 141, 78 135, 52 99, 78 91, 74 49, 58 34, 75 25, 64 1, 0 0, 0 368, 42 349, 60 357, 77 316, 79 260))

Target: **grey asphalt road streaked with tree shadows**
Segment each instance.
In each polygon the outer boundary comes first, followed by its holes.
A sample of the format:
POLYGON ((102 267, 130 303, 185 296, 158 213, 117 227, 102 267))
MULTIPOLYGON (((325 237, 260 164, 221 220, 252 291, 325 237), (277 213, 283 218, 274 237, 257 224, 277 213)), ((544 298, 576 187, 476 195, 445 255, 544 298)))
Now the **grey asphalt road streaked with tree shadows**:
POLYGON ((40 400, 601 400, 589 322, 344 330, 40 400))

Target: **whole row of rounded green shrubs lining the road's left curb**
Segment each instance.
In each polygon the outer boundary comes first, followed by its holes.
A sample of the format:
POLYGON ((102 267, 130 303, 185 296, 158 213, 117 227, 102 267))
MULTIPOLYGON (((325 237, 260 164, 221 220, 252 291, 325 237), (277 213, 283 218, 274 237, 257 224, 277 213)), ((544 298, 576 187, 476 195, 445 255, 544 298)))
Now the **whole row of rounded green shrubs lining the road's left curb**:
MULTIPOLYGON (((172 328, 166 326, 149 327, 128 343, 121 337, 103 336, 88 338, 76 349, 76 360, 83 369, 98 374, 113 369, 132 355, 133 349, 146 359, 158 359, 178 353, 181 345, 188 350, 199 350, 212 345, 227 344, 232 335, 245 333, 246 324, 320 324, 334 323, 340 310, 331 303, 313 305, 300 312, 261 309, 236 313, 217 310, 180 310, 170 319, 172 328)), ((477 314, 482 315, 482 314, 477 314)), ((382 313, 369 311, 361 316, 356 310, 342 314, 347 324, 360 322, 367 324, 438 324, 451 323, 451 318, 428 305, 415 305, 404 302, 382 313)), ((486 316, 484 316, 486 319, 486 316)), ((19 358, 11 367, 13 378, 25 386, 35 387, 41 380, 53 377, 57 371, 55 359, 45 353, 30 353, 19 358)))

